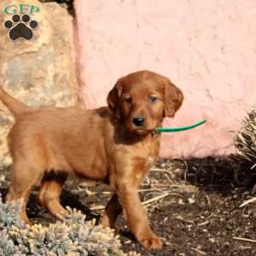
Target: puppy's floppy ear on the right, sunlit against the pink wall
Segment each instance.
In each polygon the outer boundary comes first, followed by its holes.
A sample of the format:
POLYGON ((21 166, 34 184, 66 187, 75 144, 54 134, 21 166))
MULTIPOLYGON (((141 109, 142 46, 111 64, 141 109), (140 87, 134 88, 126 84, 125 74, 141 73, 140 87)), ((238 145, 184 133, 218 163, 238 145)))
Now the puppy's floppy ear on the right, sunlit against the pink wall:
POLYGON ((174 117, 178 108, 183 103, 183 92, 172 84, 169 79, 165 79, 165 117, 174 117))

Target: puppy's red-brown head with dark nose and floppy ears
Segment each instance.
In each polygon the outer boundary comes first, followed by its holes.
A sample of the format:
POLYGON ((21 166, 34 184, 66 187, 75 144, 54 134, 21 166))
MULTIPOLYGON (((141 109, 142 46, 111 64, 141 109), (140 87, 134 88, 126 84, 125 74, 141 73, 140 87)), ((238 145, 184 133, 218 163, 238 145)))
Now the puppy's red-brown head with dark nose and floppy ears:
POLYGON ((172 82, 153 72, 139 71, 119 79, 108 94, 108 108, 131 133, 145 135, 174 117, 183 93, 172 82))

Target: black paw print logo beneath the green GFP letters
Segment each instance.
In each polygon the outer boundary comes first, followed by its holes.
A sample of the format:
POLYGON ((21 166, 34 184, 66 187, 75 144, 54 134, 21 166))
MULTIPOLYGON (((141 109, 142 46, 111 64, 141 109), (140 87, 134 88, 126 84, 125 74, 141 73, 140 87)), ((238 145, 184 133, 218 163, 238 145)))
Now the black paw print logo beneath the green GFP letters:
POLYGON ((38 27, 38 21, 31 20, 29 15, 13 15, 12 20, 6 20, 4 26, 9 29, 9 38, 16 40, 24 38, 30 40, 33 37, 33 30, 38 27))

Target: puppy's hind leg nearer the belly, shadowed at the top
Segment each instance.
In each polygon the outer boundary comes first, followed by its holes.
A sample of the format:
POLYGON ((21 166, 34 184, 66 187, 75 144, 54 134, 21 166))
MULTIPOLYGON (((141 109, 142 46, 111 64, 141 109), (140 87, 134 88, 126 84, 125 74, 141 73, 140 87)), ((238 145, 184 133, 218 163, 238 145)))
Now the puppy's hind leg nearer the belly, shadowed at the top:
POLYGON ((40 204, 55 218, 63 220, 67 217, 67 210, 61 206, 61 189, 67 180, 67 172, 51 171, 44 175, 38 194, 40 204))

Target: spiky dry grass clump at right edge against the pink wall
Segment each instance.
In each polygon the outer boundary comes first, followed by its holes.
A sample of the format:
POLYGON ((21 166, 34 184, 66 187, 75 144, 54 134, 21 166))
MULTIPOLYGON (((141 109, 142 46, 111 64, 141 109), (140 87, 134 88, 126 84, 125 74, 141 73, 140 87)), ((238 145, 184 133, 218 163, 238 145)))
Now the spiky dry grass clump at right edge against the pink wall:
MULTIPOLYGON (((237 154, 255 167, 256 162, 256 108, 243 120, 241 130, 236 133, 235 146, 237 154)), ((252 167, 252 168, 253 168, 252 167)))

